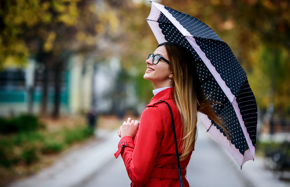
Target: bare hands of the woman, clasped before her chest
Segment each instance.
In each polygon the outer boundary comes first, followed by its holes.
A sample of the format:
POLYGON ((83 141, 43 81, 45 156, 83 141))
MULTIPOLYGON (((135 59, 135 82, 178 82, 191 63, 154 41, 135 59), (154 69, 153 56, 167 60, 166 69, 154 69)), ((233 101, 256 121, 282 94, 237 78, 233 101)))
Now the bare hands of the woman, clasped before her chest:
POLYGON ((123 125, 120 127, 120 130, 118 131, 118 135, 120 138, 123 138, 124 136, 131 136, 134 138, 134 135, 136 134, 138 130, 138 120, 131 121, 131 118, 128 118, 127 122, 123 122, 123 125))

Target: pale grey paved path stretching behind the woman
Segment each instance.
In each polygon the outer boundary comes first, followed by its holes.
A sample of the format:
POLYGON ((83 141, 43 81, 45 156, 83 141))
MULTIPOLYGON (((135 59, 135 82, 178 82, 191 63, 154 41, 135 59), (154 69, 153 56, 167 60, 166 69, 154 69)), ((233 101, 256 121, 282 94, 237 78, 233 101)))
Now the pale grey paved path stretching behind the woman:
MULTIPOLYGON (((285 187, 290 183, 279 181, 263 167, 263 158, 248 161, 242 170, 233 157, 198 123, 195 151, 187 167, 191 187, 285 187)), ((124 162, 114 153, 119 137, 117 131, 100 132, 103 142, 96 142, 72 152, 52 167, 9 187, 98 187, 130 186, 124 162)))

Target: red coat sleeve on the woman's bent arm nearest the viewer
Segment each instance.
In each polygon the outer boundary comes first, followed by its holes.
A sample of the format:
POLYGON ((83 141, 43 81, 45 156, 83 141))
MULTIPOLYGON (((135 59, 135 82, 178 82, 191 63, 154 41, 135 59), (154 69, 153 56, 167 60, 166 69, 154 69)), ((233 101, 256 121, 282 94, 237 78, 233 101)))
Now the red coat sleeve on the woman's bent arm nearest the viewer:
MULTIPOLYGON (((163 138, 163 131, 163 121, 157 107, 148 107, 140 119, 135 147, 125 147, 121 152, 128 176, 137 186, 143 186, 149 180, 163 138)), ((123 138, 133 141, 128 136, 123 138)))

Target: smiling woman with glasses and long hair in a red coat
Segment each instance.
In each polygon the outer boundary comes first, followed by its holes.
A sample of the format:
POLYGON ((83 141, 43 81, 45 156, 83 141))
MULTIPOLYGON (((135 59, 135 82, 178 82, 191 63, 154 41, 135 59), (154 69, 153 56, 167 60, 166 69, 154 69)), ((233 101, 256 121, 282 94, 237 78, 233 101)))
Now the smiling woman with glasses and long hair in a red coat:
POLYGON ((225 130, 224 124, 202 91, 188 49, 173 42, 162 43, 146 64, 144 79, 153 83, 154 97, 142 113, 139 126, 137 120, 128 118, 120 127, 115 156, 121 154, 131 186, 180 186, 171 115, 165 100, 173 112, 183 185, 189 186, 185 175, 197 138, 197 112, 225 130))

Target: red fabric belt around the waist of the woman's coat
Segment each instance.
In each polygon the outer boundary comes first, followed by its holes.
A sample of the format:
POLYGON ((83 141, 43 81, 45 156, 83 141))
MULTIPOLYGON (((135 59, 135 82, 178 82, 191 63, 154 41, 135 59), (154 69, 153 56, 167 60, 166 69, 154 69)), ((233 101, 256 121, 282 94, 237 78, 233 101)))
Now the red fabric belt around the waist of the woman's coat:
MULTIPOLYGON (((186 178, 186 168, 181 169, 181 176, 183 179, 186 178)), ((178 179, 178 169, 167 169, 165 167, 163 168, 153 168, 153 171, 151 173, 151 178, 157 178, 157 179, 178 179)))

